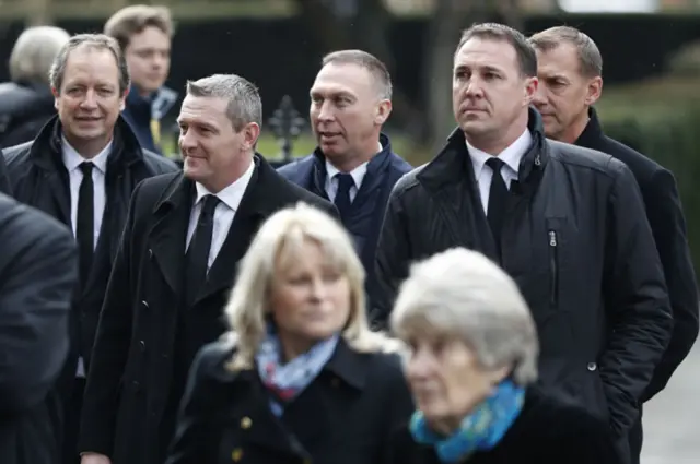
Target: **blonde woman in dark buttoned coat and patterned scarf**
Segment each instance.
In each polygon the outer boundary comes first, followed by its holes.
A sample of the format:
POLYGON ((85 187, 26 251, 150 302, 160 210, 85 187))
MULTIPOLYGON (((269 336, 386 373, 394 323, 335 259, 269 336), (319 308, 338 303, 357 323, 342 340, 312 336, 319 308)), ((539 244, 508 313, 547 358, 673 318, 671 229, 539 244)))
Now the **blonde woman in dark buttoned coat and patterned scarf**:
POLYGON ((345 229, 300 204, 272 215, 240 267, 228 340, 190 370, 168 464, 372 464, 413 411, 395 352, 368 329, 345 229))

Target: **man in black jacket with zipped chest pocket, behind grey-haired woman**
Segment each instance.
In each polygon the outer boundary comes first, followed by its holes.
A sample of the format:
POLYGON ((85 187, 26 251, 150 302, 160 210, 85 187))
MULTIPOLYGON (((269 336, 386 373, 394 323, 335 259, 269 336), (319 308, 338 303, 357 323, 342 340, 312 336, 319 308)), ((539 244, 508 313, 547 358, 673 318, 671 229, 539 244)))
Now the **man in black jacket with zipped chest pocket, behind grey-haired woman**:
POLYGON ((545 138, 529 107, 536 74, 521 33, 501 24, 464 33, 453 74, 459 128, 394 188, 374 316, 386 320, 412 261, 455 246, 485 253, 533 311, 540 384, 608 420, 625 459, 673 328, 661 261, 629 168, 545 138))

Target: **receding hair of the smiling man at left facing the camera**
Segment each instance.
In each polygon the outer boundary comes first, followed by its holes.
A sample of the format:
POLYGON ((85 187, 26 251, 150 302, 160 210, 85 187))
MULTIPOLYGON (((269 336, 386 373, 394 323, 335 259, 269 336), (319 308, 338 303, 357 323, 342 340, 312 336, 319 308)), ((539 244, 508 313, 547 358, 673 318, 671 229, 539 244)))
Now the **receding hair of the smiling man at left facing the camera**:
POLYGON ((117 68, 119 70, 119 92, 124 93, 129 88, 131 80, 129 78, 129 68, 127 61, 121 52, 119 44, 114 38, 105 34, 78 34, 72 36, 66 45, 60 49, 58 56, 54 60, 51 70, 49 72, 49 82, 51 87, 60 92, 63 84, 63 75, 66 74, 66 63, 71 51, 81 48, 89 47, 96 50, 109 50, 114 55, 114 59, 117 61, 117 68))

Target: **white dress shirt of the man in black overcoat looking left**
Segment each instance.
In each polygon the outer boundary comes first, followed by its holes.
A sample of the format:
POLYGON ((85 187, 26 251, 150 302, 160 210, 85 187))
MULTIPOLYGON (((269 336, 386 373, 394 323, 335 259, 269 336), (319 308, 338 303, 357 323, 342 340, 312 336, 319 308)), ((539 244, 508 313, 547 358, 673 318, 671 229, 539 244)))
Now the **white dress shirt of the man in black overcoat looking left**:
MULTIPOLYGON (((253 177, 254 171, 255 163, 250 162, 250 166, 248 166, 248 169, 246 169, 243 176, 241 176, 229 187, 221 190, 219 193, 214 194, 214 197, 218 197, 221 201, 214 210, 214 224, 211 237, 211 248, 209 249, 207 270, 211 269, 211 265, 214 263, 214 260, 219 254, 219 251, 221 251, 221 247, 223 247, 223 242, 229 236, 229 229, 231 228, 231 224, 233 223, 233 217, 238 210, 238 206, 241 205, 241 200, 243 199, 245 189, 250 182, 250 178, 253 177)), ((195 228, 197 227, 199 213, 201 213, 201 206, 203 204, 201 200, 205 195, 211 194, 211 192, 200 183, 196 183, 195 187, 197 188, 197 199, 195 200, 195 205, 192 206, 192 211, 189 215, 189 227, 187 229, 187 245, 185 247, 185 252, 187 252, 189 242, 195 235, 195 228)))

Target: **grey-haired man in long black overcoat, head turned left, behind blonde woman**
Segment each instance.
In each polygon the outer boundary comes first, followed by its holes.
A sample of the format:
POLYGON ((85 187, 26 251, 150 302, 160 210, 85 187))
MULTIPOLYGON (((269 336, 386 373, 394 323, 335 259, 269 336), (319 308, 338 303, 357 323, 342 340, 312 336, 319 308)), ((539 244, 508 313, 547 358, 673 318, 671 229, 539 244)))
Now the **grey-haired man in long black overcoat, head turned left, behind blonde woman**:
POLYGON ((81 425, 82 464, 165 460, 187 371, 224 331, 238 260, 261 223, 300 201, 337 216, 255 152, 262 104, 235 74, 187 83, 184 171, 141 182, 100 317, 81 425))

